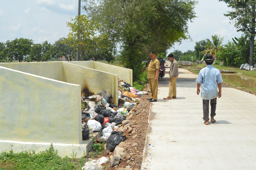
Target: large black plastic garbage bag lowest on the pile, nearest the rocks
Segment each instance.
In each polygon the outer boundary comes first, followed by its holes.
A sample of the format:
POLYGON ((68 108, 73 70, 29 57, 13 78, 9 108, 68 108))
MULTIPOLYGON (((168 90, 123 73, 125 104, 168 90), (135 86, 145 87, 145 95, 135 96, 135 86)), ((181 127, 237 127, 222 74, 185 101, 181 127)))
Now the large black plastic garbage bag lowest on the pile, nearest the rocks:
POLYGON ((124 142, 126 136, 119 131, 113 131, 107 140, 107 149, 113 152, 120 142, 124 142))

